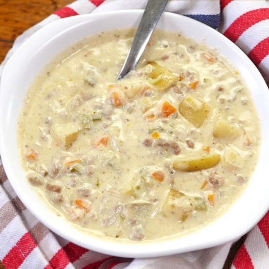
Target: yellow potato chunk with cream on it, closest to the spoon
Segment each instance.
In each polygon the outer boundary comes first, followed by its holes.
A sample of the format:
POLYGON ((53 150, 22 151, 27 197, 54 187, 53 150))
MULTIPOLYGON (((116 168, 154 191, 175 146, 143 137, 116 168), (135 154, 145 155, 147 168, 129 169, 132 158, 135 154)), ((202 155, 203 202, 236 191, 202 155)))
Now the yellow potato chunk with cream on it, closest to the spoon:
POLYGON ((157 63, 149 63, 154 67, 149 74, 149 82, 160 92, 168 89, 177 80, 177 76, 165 67, 159 66, 157 63))

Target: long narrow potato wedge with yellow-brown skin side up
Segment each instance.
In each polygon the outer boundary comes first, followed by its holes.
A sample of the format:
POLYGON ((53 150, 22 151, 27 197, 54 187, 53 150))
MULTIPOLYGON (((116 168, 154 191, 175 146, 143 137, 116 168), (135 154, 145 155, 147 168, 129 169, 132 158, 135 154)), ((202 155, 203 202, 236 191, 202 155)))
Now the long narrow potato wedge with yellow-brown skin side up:
POLYGON ((178 158, 173 162, 173 169, 177 171, 193 172, 215 166, 221 160, 219 154, 207 154, 195 157, 178 158))

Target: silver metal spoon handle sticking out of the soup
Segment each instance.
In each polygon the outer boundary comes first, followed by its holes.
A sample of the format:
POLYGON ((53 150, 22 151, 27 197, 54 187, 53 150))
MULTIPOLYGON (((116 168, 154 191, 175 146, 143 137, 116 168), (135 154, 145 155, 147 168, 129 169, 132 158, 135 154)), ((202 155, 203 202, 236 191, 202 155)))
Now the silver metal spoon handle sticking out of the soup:
POLYGON ((118 74, 118 79, 122 79, 133 70, 152 35, 152 32, 159 21, 159 18, 168 0, 149 0, 142 19, 138 25, 133 43, 128 51, 127 57, 118 74))

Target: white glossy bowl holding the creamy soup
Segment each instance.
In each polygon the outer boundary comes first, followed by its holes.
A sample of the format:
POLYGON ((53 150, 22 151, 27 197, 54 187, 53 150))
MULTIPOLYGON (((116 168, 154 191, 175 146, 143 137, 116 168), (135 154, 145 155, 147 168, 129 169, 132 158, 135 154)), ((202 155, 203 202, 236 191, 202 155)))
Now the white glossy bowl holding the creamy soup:
POLYGON ((127 10, 61 19, 43 27, 18 48, 6 64, 0 84, 0 153, 7 177, 24 205, 49 229, 79 246, 98 252, 145 258, 213 247, 236 240, 269 209, 269 91, 257 68, 236 45, 212 28, 187 17, 164 13, 157 28, 180 31, 198 41, 205 38, 207 45, 218 47, 245 78, 261 119, 262 141, 257 168, 246 191, 230 210, 201 230, 176 239, 123 244, 91 237, 75 229, 48 209, 25 180, 17 149, 17 117, 23 96, 36 73, 68 44, 103 30, 135 27, 141 16, 141 10, 127 10))

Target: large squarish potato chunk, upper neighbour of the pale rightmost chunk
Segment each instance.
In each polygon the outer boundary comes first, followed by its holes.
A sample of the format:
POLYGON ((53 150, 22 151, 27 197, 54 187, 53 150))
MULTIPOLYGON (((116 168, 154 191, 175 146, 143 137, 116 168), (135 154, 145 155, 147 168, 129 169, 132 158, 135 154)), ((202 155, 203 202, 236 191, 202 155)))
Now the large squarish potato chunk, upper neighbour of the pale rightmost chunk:
POLYGON ((187 95, 179 104, 180 114, 197 128, 202 126, 209 111, 208 104, 192 95, 187 95))

